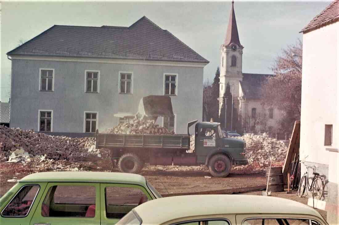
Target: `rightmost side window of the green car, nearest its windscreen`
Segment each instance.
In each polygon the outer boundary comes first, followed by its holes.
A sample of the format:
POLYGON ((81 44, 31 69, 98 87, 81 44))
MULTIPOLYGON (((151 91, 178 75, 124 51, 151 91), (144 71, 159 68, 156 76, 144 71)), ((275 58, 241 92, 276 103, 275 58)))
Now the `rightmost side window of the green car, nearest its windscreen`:
POLYGON ((106 217, 120 219, 134 207, 147 202, 148 197, 136 187, 106 187, 106 217))

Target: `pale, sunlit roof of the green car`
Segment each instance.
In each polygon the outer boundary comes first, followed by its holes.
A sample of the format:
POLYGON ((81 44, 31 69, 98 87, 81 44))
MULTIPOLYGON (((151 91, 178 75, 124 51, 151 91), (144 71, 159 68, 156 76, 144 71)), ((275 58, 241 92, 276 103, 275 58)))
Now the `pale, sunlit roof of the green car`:
POLYGON ((91 183, 128 183, 146 184, 146 179, 138 174, 111 172, 42 172, 22 178, 19 182, 91 182, 91 183))

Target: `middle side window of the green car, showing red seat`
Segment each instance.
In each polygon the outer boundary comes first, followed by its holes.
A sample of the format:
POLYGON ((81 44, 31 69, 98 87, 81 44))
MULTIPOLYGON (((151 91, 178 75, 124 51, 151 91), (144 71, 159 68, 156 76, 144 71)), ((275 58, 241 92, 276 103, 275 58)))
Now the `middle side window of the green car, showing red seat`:
POLYGON ((85 185, 55 185, 41 205, 43 217, 95 217, 96 188, 85 185))

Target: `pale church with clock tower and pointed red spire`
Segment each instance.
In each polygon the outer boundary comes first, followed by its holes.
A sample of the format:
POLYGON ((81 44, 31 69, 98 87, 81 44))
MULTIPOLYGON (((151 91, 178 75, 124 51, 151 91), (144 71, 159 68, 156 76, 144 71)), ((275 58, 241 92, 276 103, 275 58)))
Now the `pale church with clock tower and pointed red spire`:
POLYGON ((220 48, 219 117, 222 118, 226 114, 226 107, 223 107, 223 104, 225 104, 226 85, 229 83, 233 95, 232 116, 236 117, 238 126, 226 127, 226 130, 240 128, 242 129, 240 132, 277 132, 282 112, 265 107, 261 100, 262 86, 266 78, 273 74, 243 73, 243 48, 238 34, 234 2, 232 2, 226 36, 220 48))

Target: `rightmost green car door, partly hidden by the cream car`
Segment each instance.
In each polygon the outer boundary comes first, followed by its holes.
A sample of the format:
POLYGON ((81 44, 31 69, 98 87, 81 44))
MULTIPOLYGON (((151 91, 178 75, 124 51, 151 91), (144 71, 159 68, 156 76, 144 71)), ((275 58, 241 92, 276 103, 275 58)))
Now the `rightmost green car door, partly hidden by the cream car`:
POLYGON ((134 207, 149 200, 151 194, 141 185, 101 183, 101 225, 116 224, 134 207))

